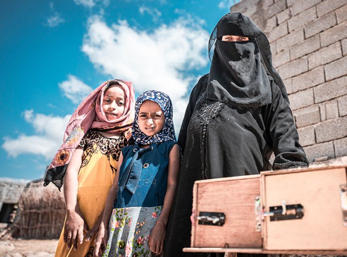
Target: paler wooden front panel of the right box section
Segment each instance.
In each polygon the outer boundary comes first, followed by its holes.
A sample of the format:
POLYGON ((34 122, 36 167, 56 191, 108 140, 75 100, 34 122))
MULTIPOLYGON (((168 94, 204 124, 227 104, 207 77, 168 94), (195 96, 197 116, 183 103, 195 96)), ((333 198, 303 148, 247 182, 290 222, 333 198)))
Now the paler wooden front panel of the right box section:
POLYGON ((270 206, 300 203, 302 219, 270 221, 265 218, 266 250, 346 250, 340 185, 346 184, 346 168, 319 168, 264 173, 265 211, 270 206))

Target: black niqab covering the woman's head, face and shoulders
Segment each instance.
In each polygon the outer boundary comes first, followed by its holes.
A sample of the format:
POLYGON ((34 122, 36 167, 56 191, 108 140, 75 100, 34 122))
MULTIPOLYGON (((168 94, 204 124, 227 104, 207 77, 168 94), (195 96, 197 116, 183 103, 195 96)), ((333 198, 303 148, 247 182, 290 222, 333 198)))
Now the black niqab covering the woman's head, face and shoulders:
POLYGON ((207 86, 211 100, 239 107, 257 107, 272 102, 271 75, 289 102, 285 85, 272 66, 270 44, 265 34, 242 13, 222 17, 211 34, 209 51, 215 46, 207 86), (248 37, 249 41, 226 42, 224 35, 248 37))

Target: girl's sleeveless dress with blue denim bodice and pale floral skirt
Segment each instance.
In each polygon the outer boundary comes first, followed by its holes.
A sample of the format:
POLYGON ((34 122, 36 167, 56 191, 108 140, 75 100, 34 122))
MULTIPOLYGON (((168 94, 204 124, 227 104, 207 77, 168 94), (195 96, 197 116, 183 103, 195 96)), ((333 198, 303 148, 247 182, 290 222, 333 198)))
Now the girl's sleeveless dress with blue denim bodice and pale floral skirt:
POLYGON ((117 199, 104 257, 153 255, 148 240, 163 208, 169 154, 175 143, 166 141, 152 143, 148 148, 137 144, 122 148, 117 199))

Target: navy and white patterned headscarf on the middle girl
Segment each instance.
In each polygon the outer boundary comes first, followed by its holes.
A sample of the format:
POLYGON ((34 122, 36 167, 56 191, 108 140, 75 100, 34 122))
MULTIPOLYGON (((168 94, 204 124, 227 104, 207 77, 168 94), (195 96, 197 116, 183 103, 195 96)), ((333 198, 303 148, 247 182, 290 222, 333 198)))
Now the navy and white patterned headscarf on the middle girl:
POLYGON ((160 91, 148 90, 139 95, 135 103, 135 120, 132 126, 132 137, 136 144, 148 145, 151 143, 160 143, 165 141, 176 141, 173 128, 173 104, 170 97, 160 91), (162 130, 157 134, 148 136, 143 133, 138 125, 138 115, 142 103, 151 100, 159 104, 164 113, 165 122, 162 130))

